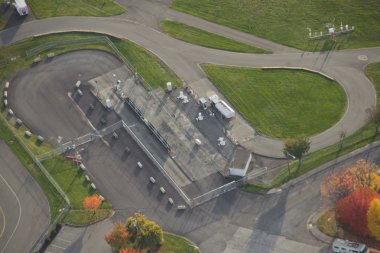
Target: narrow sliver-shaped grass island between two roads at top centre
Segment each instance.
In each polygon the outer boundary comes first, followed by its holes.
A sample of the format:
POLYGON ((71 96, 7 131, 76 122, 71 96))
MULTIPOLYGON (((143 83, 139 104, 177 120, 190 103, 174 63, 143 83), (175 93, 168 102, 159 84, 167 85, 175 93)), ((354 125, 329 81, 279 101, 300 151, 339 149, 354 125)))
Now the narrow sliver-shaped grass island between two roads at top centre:
POLYGON ((162 30, 170 36, 195 45, 243 53, 269 53, 242 42, 229 39, 186 24, 165 20, 160 23, 162 30))

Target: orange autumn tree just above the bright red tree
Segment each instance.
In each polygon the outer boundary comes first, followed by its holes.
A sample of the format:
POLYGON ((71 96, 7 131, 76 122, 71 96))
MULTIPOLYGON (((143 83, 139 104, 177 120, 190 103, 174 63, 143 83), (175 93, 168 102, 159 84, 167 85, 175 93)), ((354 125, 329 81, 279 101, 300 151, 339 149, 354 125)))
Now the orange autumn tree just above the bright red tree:
POLYGON ((375 164, 358 160, 355 165, 327 176, 321 184, 321 193, 333 200, 339 200, 359 188, 377 190, 380 185, 379 176, 376 174, 378 169, 375 164))

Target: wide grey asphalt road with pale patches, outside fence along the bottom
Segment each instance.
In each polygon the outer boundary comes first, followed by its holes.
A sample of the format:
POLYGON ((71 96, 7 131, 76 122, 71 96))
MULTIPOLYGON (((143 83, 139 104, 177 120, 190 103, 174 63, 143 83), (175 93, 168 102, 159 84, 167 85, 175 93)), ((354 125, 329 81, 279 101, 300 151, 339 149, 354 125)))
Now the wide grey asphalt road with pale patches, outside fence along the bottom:
MULTIPOLYGON (((183 213, 165 210, 159 200, 151 200, 149 207, 136 203, 129 210, 118 210, 109 220, 89 226, 85 230, 65 227, 65 233, 75 234, 64 252, 110 252, 103 239, 112 222, 125 220, 133 210, 141 208, 149 218, 158 221, 170 232, 184 235, 195 241, 202 252, 214 253, 299 253, 331 252, 329 245, 314 238, 307 228, 309 217, 327 207, 321 198, 320 182, 331 171, 340 170, 359 158, 379 164, 380 148, 355 152, 348 159, 324 166, 318 173, 305 175, 302 180, 289 183, 282 192, 259 195, 239 190, 231 191, 218 199, 183 213)), ((317 169, 318 170, 318 169, 317 169)), ((133 184, 119 186, 119 191, 129 191, 133 184)), ((112 191, 117 191, 117 185, 112 191)), ((144 190, 142 194, 146 194, 144 190)), ((63 252, 63 251, 54 251, 63 252)))

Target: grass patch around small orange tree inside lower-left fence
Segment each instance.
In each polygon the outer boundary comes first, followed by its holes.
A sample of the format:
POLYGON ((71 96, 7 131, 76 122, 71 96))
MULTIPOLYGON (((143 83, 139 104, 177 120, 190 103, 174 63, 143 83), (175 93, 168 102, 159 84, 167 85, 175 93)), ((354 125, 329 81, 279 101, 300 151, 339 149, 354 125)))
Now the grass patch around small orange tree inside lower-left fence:
POLYGON ((45 160, 42 164, 71 201, 72 209, 65 217, 65 222, 70 224, 88 224, 92 221, 108 217, 111 214, 112 207, 107 201, 103 202, 95 214, 83 209, 83 201, 87 196, 99 195, 100 193, 91 188, 91 182, 85 179, 86 173, 79 169, 78 165, 63 157, 45 160))

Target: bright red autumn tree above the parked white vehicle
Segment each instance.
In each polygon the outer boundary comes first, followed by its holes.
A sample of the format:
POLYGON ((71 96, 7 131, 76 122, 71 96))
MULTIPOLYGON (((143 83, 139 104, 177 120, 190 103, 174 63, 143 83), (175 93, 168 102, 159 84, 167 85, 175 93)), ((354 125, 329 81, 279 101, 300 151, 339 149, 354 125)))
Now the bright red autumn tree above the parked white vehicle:
POLYGON ((352 232, 369 236, 371 233, 368 229, 367 213, 371 201, 377 196, 374 190, 368 188, 353 191, 336 203, 337 220, 350 227, 352 232))

